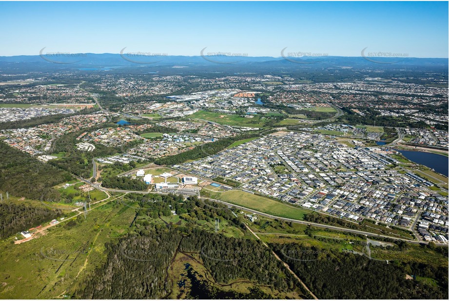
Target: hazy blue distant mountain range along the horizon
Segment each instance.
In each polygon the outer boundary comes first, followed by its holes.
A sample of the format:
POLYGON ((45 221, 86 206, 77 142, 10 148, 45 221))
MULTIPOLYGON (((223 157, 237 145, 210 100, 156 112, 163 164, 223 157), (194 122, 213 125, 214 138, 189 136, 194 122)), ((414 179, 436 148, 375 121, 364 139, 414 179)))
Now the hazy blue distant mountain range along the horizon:
MULTIPOLYGON (((364 66, 440 66, 448 67, 448 58, 416 57, 363 57, 363 56, 320 56, 320 57, 271 57, 271 56, 145 56, 140 54, 54 54, 37 56, 0 56, 0 67, 14 67, 15 64, 48 65, 59 64, 68 68, 114 68, 125 66, 189 66, 213 65, 260 65, 261 67, 364 67, 364 66)), ((19 67, 19 66, 16 66, 19 67)))

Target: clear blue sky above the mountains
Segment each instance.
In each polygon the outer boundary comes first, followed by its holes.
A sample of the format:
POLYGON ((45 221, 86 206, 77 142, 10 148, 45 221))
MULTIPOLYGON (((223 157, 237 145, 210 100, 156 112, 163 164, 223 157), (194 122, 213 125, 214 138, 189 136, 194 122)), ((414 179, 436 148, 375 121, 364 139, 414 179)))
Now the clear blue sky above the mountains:
POLYGON ((448 2, 0 2, 0 56, 290 52, 448 57, 448 2))

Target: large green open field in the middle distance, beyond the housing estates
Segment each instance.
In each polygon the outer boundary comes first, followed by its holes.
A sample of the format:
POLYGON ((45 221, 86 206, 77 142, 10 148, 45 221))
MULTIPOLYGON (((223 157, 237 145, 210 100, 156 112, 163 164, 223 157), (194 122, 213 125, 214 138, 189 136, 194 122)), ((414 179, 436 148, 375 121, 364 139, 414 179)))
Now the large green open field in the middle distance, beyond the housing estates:
POLYGON ((219 124, 245 126, 245 127, 263 127, 265 126, 265 120, 267 120, 261 119, 261 117, 259 117, 258 115, 254 115, 253 118, 245 118, 240 117, 239 115, 207 112, 202 110, 195 112, 192 115, 189 115, 188 117, 205 119, 219 124))

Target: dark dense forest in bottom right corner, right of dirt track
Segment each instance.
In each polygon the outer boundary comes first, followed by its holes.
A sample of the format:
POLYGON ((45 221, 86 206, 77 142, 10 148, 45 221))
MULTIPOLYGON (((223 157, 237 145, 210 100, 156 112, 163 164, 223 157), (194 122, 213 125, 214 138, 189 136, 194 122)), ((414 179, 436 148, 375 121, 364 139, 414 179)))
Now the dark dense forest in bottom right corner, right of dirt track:
POLYGON ((271 246, 318 299, 448 299, 447 266, 386 263, 298 244, 271 246), (406 275, 435 279, 440 288, 406 275))

